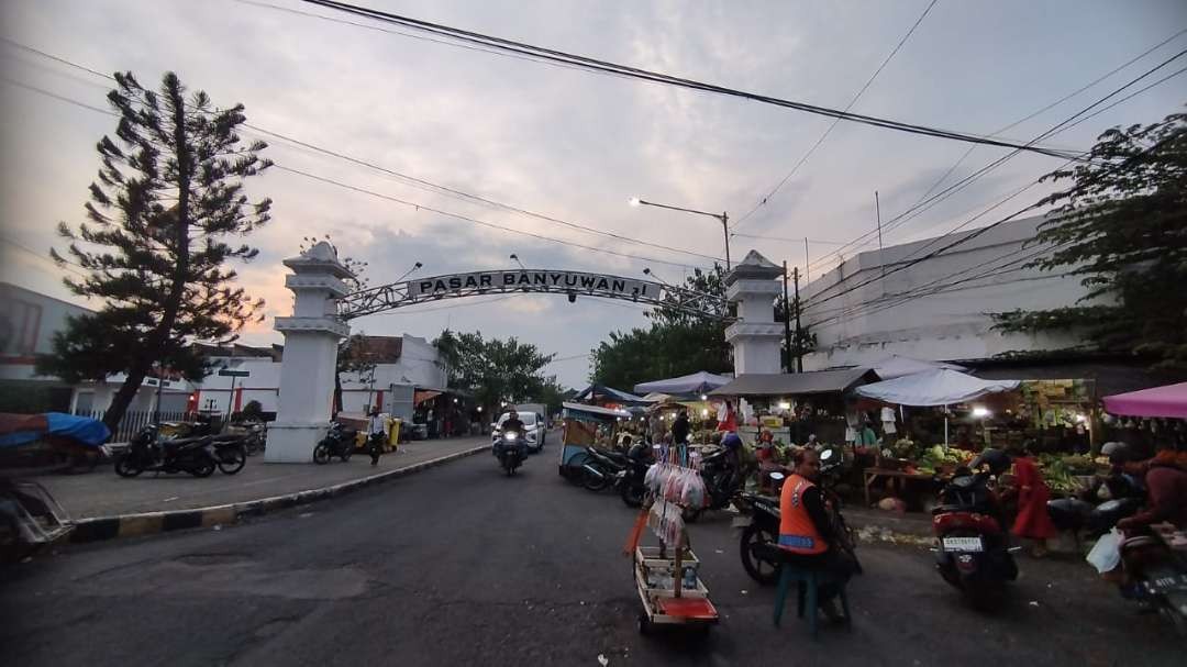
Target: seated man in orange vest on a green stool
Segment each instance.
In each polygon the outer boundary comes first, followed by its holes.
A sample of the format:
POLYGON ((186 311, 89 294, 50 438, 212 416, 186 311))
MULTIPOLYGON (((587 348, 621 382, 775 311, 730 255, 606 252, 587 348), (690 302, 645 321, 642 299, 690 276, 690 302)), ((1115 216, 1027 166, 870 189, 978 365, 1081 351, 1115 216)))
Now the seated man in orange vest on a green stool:
MULTIPOLYGON (((799 567, 825 570, 839 579, 848 580, 855 571, 852 559, 832 548, 834 541, 832 520, 825 506, 824 494, 817 487, 820 478, 820 455, 805 447, 795 453, 795 470, 783 482, 779 498, 779 548, 783 559, 799 567)), ((843 621, 833 599, 839 592, 837 584, 820 586, 820 610, 830 621, 843 621)))

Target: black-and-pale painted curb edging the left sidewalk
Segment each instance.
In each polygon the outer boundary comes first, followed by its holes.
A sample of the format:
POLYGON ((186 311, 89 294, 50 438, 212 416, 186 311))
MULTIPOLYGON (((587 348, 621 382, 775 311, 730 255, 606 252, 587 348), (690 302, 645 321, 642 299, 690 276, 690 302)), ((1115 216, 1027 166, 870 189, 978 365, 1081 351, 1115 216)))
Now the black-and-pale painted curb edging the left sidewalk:
POLYGON ((468 456, 488 451, 490 451, 490 445, 484 444, 430 460, 423 460, 405 468, 388 470, 386 472, 362 477, 360 479, 351 479, 332 487, 307 489, 304 491, 254 501, 202 507, 197 509, 178 509, 174 512, 146 512, 140 514, 121 514, 119 516, 81 519, 70 523, 74 527, 74 531, 70 533, 70 542, 97 542, 113 540, 115 538, 134 538, 139 535, 151 535, 154 533, 184 531, 186 528, 227 526, 239 522, 245 516, 261 516, 269 512, 332 498, 372 484, 377 484, 396 477, 404 477, 406 475, 413 475, 423 470, 429 470, 430 468, 436 468, 468 456))

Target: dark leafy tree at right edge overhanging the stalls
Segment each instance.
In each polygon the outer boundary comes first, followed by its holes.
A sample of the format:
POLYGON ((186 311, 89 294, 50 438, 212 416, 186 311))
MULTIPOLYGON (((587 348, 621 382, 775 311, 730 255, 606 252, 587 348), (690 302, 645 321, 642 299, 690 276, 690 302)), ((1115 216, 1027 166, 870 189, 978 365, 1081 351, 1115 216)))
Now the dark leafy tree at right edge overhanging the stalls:
POLYGON ((1187 370, 1187 115, 1112 128, 1090 161, 1046 180, 1071 185, 1033 244, 1052 250, 1027 266, 1083 277, 1077 304, 996 313, 1004 331, 1069 331, 1099 351, 1153 357, 1187 370))

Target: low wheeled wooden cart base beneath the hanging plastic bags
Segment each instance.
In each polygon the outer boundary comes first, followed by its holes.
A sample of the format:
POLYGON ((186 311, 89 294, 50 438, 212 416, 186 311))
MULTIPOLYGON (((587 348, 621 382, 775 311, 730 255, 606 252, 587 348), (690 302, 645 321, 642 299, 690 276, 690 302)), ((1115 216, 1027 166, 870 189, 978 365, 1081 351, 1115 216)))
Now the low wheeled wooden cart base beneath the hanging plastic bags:
POLYGON ((665 547, 640 546, 635 550, 635 585, 643 603, 639 612, 639 631, 648 634, 653 625, 687 625, 700 634, 718 621, 717 608, 709 599, 709 589, 700 580, 700 560, 692 550, 679 547, 668 557, 665 547), (691 568, 694 586, 685 586, 685 571, 691 568))

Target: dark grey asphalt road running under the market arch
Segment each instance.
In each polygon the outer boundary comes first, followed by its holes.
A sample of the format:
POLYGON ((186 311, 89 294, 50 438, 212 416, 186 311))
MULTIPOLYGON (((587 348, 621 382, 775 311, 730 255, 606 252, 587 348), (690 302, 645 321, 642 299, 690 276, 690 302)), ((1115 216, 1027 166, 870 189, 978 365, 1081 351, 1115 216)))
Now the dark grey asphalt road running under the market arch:
POLYGON ((852 629, 812 642, 742 570, 729 515, 692 529, 722 624, 640 636, 622 545, 635 514, 475 456, 221 531, 68 548, 0 580, 4 662, 53 665, 1182 665, 1185 644, 1083 563, 1024 559, 971 610, 926 550, 863 546, 852 629))

